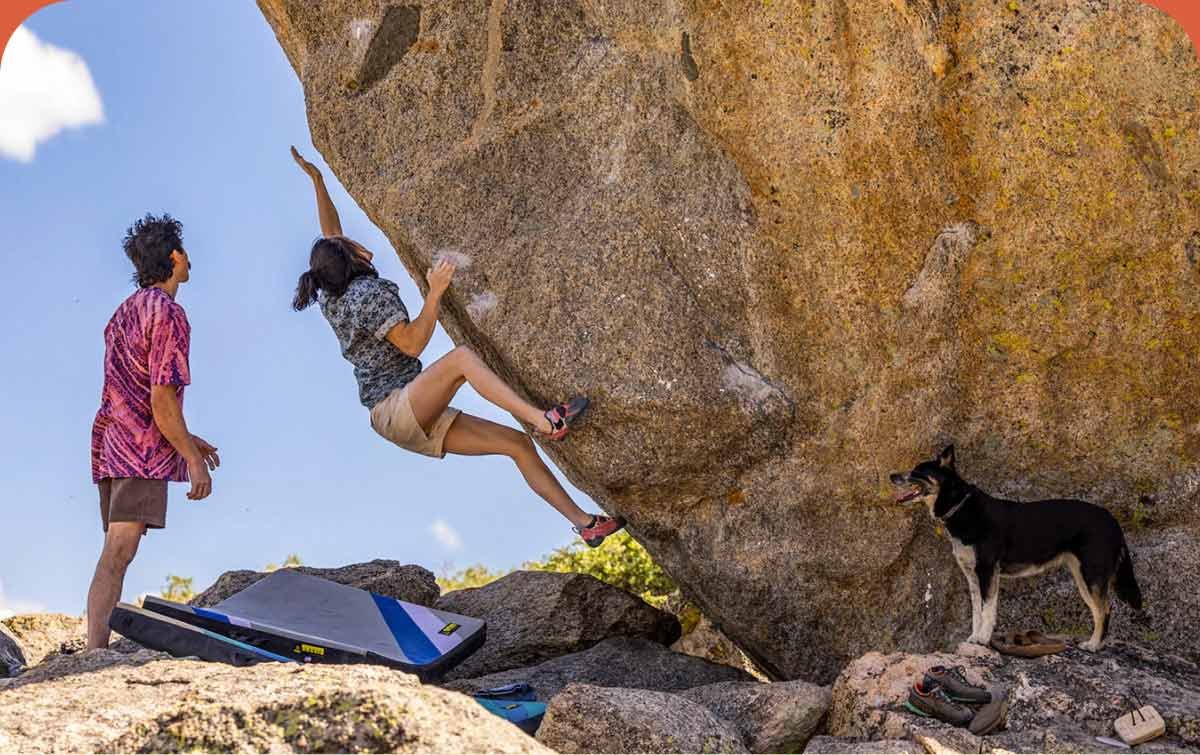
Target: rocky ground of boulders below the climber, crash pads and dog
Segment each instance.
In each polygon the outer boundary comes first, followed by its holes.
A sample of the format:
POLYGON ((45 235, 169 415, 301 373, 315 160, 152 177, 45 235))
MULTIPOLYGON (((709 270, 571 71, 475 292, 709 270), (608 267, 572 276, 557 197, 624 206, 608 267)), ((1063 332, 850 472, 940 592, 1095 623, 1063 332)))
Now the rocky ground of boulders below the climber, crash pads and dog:
MULTIPOLYGON (((487 642, 442 684, 422 685, 374 666, 235 669, 128 640, 82 652, 80 619, 14 617, 0 624, 0 659, 20 657, 26 670, 0 679, 0 751, 1106 751, 1094 737, 1111 736, 1136 695, 1168 725, 1138 751, 1200 753, 1200 669, 1123 642, 1036 660, 967 646, 868 653, 832 688, 767 683, 671 649, 673 616, 588 576, 515 573, 438 595, 432 574, 396 562, 314 573, 486 618, 487 642), (1003 690, 1007 727, 978 738, 905 712, 912 679, 935 664, 1003 690), (463 694, 517 679, 547 702, 535 738, 463 694)), ((197 601, 257 577, 226 574, 197 601)))

